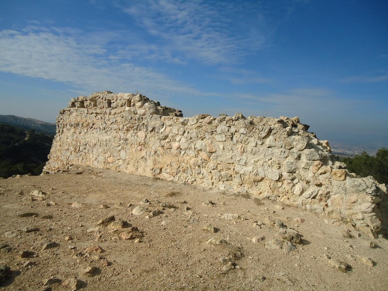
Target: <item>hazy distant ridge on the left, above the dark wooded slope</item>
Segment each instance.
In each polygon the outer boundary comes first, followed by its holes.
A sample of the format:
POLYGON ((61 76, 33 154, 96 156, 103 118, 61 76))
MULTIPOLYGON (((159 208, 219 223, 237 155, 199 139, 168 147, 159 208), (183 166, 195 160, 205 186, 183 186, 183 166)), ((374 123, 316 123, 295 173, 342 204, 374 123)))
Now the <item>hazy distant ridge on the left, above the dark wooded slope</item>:
POLYGON ((56 125, 32 118, 24 118, 15 115, 0 115, 0 124, 16 126, 24 130, 34 129, 36 132, 55 135, 56 125))

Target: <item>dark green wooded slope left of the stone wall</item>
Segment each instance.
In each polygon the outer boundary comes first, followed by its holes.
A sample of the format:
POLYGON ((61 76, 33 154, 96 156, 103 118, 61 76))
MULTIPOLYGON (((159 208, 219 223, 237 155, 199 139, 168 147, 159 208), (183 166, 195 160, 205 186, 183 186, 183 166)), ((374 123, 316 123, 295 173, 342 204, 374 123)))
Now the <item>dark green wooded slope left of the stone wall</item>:
POLYGON ((42 173, 53 138, 33 129, 0 124, 0 177, 42 173))

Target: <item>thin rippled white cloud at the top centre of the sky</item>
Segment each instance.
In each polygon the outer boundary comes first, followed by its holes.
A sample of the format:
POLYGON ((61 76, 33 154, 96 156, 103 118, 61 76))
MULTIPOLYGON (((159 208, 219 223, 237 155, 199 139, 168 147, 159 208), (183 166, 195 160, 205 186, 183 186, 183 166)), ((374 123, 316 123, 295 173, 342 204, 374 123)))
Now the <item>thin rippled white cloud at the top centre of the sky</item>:
MULTIPOLYGON (((236 29, 248 21, 239 13, 241 5, 144 0, 125 1, 119 7, 171 55, 206 64, 224 64, 236 62, 265 45, 266 35, 259 16, 249 19, 249 29, 236 29)), ((257 9, 255 3, 243 5, 251 5, 244 9, 257 9)))

